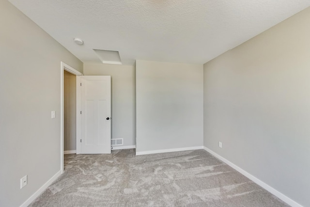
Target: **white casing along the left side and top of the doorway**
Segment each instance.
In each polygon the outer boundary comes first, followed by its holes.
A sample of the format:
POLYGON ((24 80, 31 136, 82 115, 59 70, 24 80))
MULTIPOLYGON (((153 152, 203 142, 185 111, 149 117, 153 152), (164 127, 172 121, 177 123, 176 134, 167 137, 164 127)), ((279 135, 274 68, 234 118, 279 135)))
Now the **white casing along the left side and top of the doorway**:
POLYGON ((61 62, 60 69, 60 169, 63 173, 63 71, 66 70, 76 76, 82 76, 83 74, 71 67, 68 64, 61 62))

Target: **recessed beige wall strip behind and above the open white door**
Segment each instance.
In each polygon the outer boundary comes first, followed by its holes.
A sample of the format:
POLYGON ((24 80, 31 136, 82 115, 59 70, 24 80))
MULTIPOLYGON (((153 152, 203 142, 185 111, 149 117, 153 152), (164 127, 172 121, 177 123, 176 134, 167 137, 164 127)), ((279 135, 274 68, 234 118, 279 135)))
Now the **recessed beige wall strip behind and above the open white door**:
POLYGON ((136 144, 135 65, 84 64, 85 76, 111 76, 112 139, 124 139, 123 146, 136 144))

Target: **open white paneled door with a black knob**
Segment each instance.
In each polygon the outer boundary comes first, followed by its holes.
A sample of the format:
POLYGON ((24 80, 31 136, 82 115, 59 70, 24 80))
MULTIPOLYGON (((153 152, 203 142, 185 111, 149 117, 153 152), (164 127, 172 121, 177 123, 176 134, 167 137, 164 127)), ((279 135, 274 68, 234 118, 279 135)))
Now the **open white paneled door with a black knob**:
POLYGON ((81 76, 81 153, 111 153, 111 77, 81 76))

